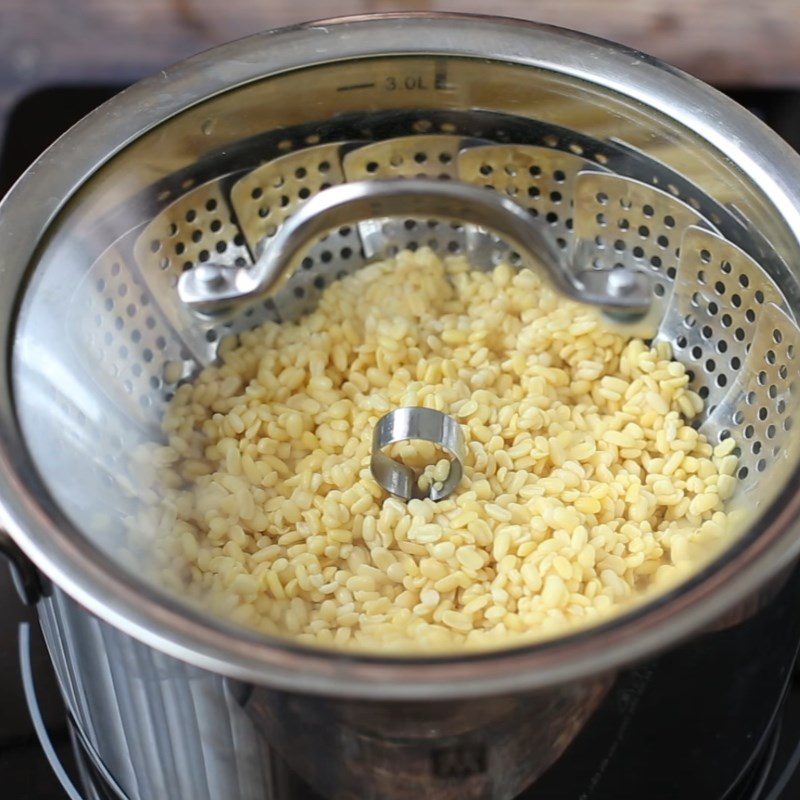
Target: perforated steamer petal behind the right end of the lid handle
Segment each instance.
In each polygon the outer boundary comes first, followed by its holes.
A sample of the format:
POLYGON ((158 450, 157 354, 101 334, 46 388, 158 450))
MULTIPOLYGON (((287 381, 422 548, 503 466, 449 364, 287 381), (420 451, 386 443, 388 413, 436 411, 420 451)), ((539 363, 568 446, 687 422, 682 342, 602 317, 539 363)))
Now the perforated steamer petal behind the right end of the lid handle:
POLYGON ((657 314, 672 292, 683 232, 690 225, 713 228, 671 193, 600 172, 577 176, 575 207, 580 259, 597 269, 622 265, 651 272, 657 314))

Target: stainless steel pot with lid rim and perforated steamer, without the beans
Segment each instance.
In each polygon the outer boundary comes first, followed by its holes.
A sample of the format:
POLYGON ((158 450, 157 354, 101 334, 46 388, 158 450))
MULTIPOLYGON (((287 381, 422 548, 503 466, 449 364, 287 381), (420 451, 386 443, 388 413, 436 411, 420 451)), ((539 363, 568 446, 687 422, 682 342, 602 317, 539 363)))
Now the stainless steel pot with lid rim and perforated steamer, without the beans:
POLYGON ((42 626, 71 715, 120 790, 272 797, 272 747, 330 797, 509 798, 564 750, 615 669, 752 605, 800 548, 787 435, 798 186, 800 161, 760 122, 647 56, 447 15, 260 34, 123 92, 53 145, 0 206, 3 541, 30 592, 27 559, 42 573, 42 626), (484 168, 516 158, 524 181, 509 171, 494 188, 524 190, 565 250, 589 243, 598 269, 621 263, 660 287, 659 336, 695 369, 713 406, 705 430, 741 441, 737 502, 752 513, 737 541, 601 626, 429 658, 268 639, 137 572, 116 537, 132 502, 126 453, 226 330, 302 313, 326 281, 387 248, 503 252, 469 226, 365 220, 315 244, 281 294, 222 327, 175 291, 184 266, 208 260, 203 237, 247 264, 327 183, 486 182, 484 168), (262 184, 281 209, 269 219, 262 184), (611 203, 610 227, 593 203, 611 203), (667 209, 657 219, 654 204, 667 209), (181 249, 166 258, 169 237, 181 249))

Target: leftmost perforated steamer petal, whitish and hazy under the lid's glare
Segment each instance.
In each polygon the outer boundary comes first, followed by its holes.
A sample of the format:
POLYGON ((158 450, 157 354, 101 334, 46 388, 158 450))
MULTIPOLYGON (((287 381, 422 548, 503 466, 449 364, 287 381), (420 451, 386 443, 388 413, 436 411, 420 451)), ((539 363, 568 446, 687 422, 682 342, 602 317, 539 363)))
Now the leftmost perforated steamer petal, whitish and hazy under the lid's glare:
MULTIPOLYGON (((190 358, 165 324, 163 306, 130 266, 130 248, 122 239, 92 264, 70 298, 67 330, 75 352, 98 386, 111 394, 132 421, 153 425, 154 404, 183 367, 168 364, 190 358)), ((174 293, 174 289, 171 289, 174 293)))

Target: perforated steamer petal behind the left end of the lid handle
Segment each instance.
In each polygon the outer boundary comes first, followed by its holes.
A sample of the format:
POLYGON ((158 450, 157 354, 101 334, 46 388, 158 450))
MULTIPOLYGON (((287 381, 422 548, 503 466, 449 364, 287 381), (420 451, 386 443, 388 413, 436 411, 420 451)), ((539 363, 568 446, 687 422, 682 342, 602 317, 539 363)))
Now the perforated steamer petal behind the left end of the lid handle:
POLYGON ((228 204, 225 183, 209 181, 167 206, 144 228, 134 246, 142 283, 186 350, 200 363, 216 354, 212 321, 199 319, 178 299, 181 272, 213 260, 243 266, 252 263, 244 236, 228 204))

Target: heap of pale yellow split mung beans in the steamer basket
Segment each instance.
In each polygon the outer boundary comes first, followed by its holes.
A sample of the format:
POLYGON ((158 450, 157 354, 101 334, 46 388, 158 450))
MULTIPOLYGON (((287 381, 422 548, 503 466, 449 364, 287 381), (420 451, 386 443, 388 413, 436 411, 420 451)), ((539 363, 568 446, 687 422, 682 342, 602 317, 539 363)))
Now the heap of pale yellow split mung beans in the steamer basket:
MULTIPOLYGON (((299 321, 224 343, 177 389, 167 446, 134 454, 158 500, 128 520, 129 545, 184 596, 313 644, 572 630, 731 535, 735 443, 690 426, 688 380, 669 345, 626 339, 529 270, 403 252, 299 321), (375 422, 400 406, 463 427, 464 478, 441 502, 386 497, 370 474, 375 422)), ((403 448, 428 465, 421 488, 447 479, 433 449, 403 448)))

